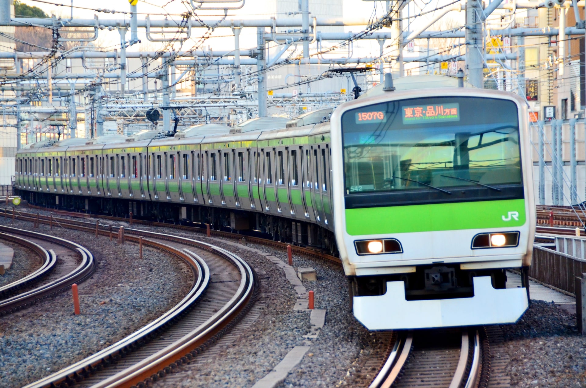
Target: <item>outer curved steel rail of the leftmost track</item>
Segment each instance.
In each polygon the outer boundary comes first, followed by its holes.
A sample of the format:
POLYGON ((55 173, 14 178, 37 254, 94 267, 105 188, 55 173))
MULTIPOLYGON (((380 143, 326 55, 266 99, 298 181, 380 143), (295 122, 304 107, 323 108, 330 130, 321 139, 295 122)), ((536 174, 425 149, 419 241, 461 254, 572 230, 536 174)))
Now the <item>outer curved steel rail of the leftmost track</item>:
POLYGON ((32 232, 30 230, 16 229, 8 226, 0 226, 0 231, 12 234, 20 234, 21 236, 28 236, 35 239, 50 241, 54 244, 66 247, 69 250, 76 251, 81 256, 81 263, 70 273, 63 275, 56 280, 40 285, 33 290, 23 292, 11 298, 6 298, 0 302, 0 315, 5 315, 10 312, 15 312, 19 308, 28 307, 39 299, 49 297, 65 290, 73 283, 80 283, 86 280, 93 274, 95 269, 94 256, 85 247, 73 241, 65 240, 60 237, 50 236, 49 234, 32 232))

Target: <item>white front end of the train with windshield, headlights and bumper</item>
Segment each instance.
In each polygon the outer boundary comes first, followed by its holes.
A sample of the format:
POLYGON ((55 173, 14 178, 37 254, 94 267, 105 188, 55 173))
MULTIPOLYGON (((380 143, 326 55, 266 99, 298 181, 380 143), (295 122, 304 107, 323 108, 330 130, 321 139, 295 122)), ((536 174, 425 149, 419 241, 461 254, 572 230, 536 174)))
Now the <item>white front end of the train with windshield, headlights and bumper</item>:
POLYGON ((510 93, 391 91, 331 118, 335 233, 371 330, 515 322, 535 230, 529 125, 510 93))

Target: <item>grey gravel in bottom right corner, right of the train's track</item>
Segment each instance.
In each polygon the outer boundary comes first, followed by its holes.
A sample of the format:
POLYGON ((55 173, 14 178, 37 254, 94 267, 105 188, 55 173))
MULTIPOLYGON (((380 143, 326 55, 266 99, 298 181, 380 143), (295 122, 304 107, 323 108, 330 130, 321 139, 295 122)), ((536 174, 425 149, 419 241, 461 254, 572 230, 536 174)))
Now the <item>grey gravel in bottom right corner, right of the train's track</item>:
POLYGON ((512 387, 586 386, 586 338, 576 316, 554 304, 532 301, 515 325, 503 325, 512 387))

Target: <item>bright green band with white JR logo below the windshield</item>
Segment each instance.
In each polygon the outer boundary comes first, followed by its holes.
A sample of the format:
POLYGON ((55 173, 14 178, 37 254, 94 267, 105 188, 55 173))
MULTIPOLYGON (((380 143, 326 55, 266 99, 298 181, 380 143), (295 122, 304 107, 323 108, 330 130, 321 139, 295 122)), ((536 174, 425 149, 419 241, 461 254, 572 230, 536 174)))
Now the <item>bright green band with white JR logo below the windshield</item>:
POLYGON ((350 236, 505 228, 525 222, 524 199, 346 209, 346 232, 350 236), (503 220, 510 212, 519 213, 518 220, 503 220))

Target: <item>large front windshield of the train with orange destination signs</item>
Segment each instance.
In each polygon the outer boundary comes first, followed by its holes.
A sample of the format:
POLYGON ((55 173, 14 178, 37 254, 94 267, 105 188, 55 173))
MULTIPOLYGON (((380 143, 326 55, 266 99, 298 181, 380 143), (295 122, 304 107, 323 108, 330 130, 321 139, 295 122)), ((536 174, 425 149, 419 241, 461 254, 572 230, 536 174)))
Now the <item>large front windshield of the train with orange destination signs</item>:
POLYGON ((346 111, 342 132, 346 198, 396 194, 371 198, 382 206, 522 196, 519 120, 513 101, 389 101, 346 111))

